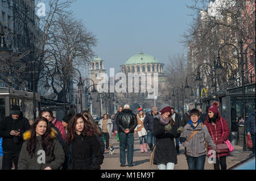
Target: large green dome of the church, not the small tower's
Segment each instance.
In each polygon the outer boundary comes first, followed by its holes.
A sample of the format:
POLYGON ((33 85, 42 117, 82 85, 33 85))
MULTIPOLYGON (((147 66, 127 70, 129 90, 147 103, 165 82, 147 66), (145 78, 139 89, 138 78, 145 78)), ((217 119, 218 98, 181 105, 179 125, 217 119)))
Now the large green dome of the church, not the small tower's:
POLYGON ((149 54, 139 53, 135 54, 134 56, 130 57, 126 62, 125 65, 130 64, 158 64, 159 61, 156 58, 152 57, 149 54))

